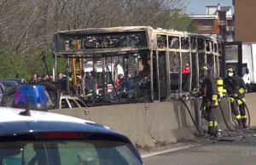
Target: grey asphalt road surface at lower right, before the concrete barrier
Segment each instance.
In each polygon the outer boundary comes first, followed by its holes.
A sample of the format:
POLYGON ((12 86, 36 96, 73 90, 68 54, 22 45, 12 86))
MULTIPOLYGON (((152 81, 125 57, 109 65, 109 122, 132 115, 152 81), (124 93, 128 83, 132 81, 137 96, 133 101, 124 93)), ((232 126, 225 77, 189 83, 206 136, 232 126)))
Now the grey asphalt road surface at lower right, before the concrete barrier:
MULTIPOLYGON (((223 135, 224 136, 224 135, 223 135)), ((143 158, 145 165, 253 165, 256 164, 256 131, 224 136, 234 141, 201 139, 201 146, 143 158)))

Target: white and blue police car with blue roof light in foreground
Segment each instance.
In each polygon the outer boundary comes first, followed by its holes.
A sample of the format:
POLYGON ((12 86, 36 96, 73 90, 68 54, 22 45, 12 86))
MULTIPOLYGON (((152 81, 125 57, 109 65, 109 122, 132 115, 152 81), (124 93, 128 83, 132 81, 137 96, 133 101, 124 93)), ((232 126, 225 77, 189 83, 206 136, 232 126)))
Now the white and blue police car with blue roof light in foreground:
POLYGON ((0 107, 1 164, 143 164, 125 135, 96 122, 44 111, 46 102, 43 86, 20 85, 15 108, 0 107))

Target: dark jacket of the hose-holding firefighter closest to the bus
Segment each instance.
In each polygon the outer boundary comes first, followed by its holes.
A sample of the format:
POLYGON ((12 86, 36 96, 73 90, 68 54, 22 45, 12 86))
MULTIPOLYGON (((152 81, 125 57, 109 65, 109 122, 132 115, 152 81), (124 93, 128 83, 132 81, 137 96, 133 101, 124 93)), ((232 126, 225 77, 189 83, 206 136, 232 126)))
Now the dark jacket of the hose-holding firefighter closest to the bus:
POLYGON ((202 83, 200 90, 194 94, 195 97, 201 97, 203 102, 211 103, 212 108, 218 106, 218 86, 216 79, 212 76, 206 77, 202 83))

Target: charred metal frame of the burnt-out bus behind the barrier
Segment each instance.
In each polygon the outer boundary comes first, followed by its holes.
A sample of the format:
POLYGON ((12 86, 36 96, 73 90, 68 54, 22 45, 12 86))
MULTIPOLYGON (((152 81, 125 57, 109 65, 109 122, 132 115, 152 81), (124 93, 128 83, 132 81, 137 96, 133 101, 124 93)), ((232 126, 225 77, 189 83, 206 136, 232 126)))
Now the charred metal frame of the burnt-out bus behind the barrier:
MULTIPOLYGON (((199 60, 207 63, 211 54, 212 71, 219 76, 221 41, 215 37, 185 31, 154 29, 150 26, 124 26, 111 28, 89 28, 84 30, 58 31, 53 41, 56 78, 57 57, 64 58, 108 58, 111 56, 140 54, 141 71, 148 72, 150 78, 150 99, 157 101, 171 96, 170 59, 175 54, 179 59, 178 93, 183 93, 183 54, 189 57, 189 88, 192 80, 199 85, 199 60), (71 43, 79 40, 80 48, 71 48, 71 43), (96 40, 96 41, 94 41, 96 40), (90 42, 89 42, 90 41, 90 42), (132 42, 131 42, 132 41, 132 42), (149 61, 149 64, 148 64, 149 61), (161 63, 160 63, 161 61, 161 63), (163 61, 165 64, 163 65, 163 61), (194 70, 191 66, 194 65, 194 70), (164 88, 161 90, 160 88, 164 88), (161 94, 166 91, 166 94, 161 94)), ((105 87, 104 87, 105 88, 105 87)), ((104 89, 103 88, 103 89, 104 89)), ((94 86, 93 90, 96 90, 94 86)))

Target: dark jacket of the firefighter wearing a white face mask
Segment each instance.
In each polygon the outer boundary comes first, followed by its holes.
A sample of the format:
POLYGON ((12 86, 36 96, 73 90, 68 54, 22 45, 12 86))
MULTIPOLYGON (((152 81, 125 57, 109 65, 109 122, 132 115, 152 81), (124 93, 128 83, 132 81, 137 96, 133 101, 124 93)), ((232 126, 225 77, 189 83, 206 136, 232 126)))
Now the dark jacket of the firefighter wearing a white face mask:
POLYGON ((234 76, 224 79, 224 93, 236 94, 240 99, 245 98, 246 84, 241 77, 234 76))

